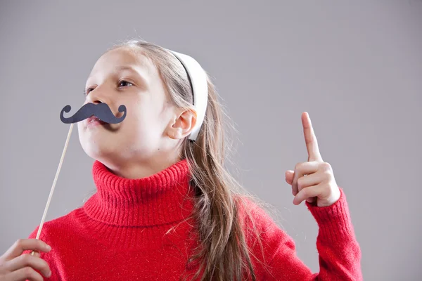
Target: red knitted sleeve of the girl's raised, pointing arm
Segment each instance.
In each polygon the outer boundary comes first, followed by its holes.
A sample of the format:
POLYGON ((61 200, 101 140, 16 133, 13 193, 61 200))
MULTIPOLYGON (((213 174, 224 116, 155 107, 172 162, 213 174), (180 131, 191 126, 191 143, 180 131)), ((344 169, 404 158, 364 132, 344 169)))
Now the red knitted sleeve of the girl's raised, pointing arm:
POLYGON ((319 273, 312 273, 296 255, 293 239, 269 215, 258 209, 255 218, 263 230, 263 248, 258 251, 264 250, 263 258, 267 263, 260 273, 262 280, 363 280, 361 251, 354 236, 343 189, 340 188, 340 199, 331 206, 306 204, 319 226, 316 238, 319 273))

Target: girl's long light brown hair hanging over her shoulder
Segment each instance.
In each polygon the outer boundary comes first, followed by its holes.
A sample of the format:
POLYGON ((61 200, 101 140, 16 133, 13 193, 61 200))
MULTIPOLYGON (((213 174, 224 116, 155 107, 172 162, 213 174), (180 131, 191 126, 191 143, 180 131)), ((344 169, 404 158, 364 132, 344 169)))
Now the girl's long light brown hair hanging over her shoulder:
MULTIPOLYGON (((191 84, 186 70, 170 51, 143 39, 131 39, 108 49, 129 47, 151 59, 160 73, 175 105, 191 107, 191 84), (139 47, 139 48, 138 48, 139 47)), ((192 280, 241 281, 256 280, 242 221, 239 203, 245 198, 263 206, 258 198, 247 192, 224 167, 226 157, 225 117, 219 96, 207 75, 208 104, 203 125, 195 142, 187 138, 181 145, 181 159, 187 159, 191 171, 191 185, 196 197, 193 218, 197 222, 200 244, 190 261, 199 264, 192 280), (240 195, 242 196, 236 196, 240 195), (200 276, 201 272, 203 273, 200 276)), ((252 221, 248 209, 245 214, 252 221)), ((260 237, 257 233, 257 237, 260 237)), ((260 242, 260 240, 258 241, 260 242)), ((262 249, 262 244, 261 244, 262 249)))

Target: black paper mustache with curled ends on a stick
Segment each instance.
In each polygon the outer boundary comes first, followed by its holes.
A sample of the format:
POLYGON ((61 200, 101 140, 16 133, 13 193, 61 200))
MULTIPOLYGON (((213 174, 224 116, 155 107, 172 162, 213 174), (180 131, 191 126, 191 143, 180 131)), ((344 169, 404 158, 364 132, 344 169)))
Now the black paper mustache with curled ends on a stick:
POLYGON ((60 112, 60 119, 65 124, 70 123, 76 123, 79 121, 82 121, 84 119, 87 119, 88 117, 91 117, 94 115, 95 117, 98 117, 103 122, 111 123, 111 124, 117 124, 123 121, 123 119, 126 117, 126 107, 124 105, 120 105, 119 112, 124 112, 124 115, 120 118, 117 118, 113 115, 113 112, 110 110, 110 107, 106 103, 87 103, 83 105, 72 117, 65 118, 63 116, 63 112, 70 112, 72 108, 70 105, 66 105, 63 107, 63 110, 60 112))

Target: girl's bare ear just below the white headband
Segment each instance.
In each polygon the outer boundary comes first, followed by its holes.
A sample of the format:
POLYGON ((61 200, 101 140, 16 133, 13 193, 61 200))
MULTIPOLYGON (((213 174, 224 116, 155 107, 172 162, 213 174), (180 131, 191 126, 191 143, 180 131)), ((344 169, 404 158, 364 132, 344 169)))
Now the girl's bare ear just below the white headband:
POLYGON ((193 108, 181 109, 173 124, 167 129, 167 136, 179 140, 188 136, 196 124, 196 111, 193 108))

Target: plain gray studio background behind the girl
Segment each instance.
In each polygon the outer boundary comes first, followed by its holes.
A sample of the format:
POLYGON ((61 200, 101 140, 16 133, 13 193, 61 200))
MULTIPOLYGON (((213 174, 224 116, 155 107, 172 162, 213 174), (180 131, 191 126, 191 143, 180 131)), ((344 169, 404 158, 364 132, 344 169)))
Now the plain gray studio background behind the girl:
MULTIPOLYGON (((344 188, 365 280, 421 280, 422 1, 1 1, 0 252, 41 221, 91 67, 142 37, 214 77, 238 133, 231 171, 273 204, 319 269, 317 226, 284 178, 307 160, 300 115, 344 188)), ((72 133, 46 220, 95 190, 72 133)))

